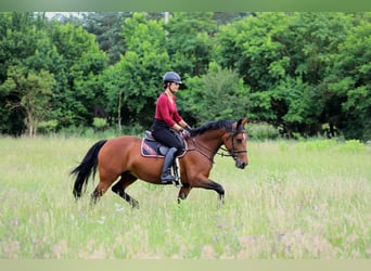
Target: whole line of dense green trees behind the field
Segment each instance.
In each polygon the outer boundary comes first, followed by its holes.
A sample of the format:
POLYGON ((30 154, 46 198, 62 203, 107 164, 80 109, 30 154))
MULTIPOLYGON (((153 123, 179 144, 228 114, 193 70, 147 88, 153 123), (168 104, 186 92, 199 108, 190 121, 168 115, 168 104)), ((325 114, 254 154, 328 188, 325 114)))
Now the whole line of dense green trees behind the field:
POLYGON ((193 126, 371 139, 371 13, 0 13, 0 132, 150 128, 166 70, 193 126))

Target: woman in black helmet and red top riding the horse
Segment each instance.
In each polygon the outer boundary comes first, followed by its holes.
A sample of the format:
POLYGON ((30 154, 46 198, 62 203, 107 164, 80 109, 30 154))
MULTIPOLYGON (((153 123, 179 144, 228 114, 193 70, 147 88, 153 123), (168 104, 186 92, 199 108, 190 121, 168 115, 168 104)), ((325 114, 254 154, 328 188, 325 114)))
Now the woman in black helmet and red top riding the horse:
POLYGON ((152 125, 154 139, 169 147, 165 155, 161 181, 168 184, 176 181, 171 176, 170 168, 180 154, 182 144, 175 132, 180 132, 184 138, 189 137, 191 127, 182 119, 177 109, 177 98, 175 93, 182 83, 180 76, 175 72, 167 72, 163 77, 163 89, 156 102, 156 112, 152 125), (186 129, 186 130, 184 130, 186 129))

